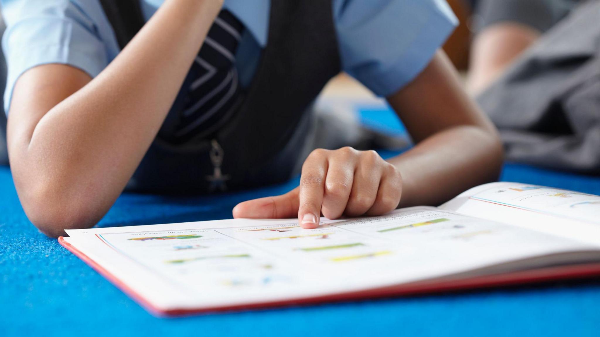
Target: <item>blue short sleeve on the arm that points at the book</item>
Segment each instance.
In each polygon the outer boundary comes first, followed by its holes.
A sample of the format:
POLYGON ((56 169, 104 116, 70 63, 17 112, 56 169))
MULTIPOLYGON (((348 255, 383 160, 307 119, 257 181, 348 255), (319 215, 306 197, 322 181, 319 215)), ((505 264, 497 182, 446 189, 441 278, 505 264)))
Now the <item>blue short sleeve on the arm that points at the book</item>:
POLYGON ((343 70, 378 96, 412 81, 458 23, 445 0, 334 0, 343 70))

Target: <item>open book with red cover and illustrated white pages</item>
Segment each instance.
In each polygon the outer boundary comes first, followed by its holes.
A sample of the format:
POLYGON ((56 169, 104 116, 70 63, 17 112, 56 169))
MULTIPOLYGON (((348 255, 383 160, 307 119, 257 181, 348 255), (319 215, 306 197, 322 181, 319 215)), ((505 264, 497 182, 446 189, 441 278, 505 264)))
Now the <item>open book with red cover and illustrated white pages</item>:
POLYGON ((489 183, 440 207, 331 221, 67 230, 59 242, 158 315, 600 275, 600 197, 489 183))

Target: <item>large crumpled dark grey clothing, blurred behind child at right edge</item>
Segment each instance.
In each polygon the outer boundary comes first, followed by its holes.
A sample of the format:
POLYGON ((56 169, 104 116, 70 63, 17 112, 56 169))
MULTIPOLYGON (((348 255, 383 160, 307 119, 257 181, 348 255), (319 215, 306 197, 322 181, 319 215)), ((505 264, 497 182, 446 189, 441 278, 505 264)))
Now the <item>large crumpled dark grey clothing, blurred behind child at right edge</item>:
POLYGON ((509 161, 600 174, 600 1, 554 26, 478 102, 509 161))

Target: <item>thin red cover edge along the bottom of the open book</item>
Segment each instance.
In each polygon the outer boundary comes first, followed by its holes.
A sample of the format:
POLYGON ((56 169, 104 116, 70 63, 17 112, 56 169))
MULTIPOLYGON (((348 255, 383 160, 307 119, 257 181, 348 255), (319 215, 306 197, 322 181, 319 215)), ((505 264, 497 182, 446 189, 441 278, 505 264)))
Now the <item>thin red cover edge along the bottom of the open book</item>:
POLYGON ((139 303, 143 308, 159 317, 176 317, 184 315, 208 314, 214 312, 232 312, 253 309, 281 308, 284 306, 314 305, 326 302, 350 302, 355 300, 379 299, 384 297, 415 296, 423 294, 447 293, 451 291, 473 290, 475 288, 492 288, 517 284, 533 284, 548 281, 560 281, 566 279, 586 279, 600 276, 600 263, 574 264, 567 266, 548 267, 535 270, 523 270, 519 272, 502 273, 498 275, 476 276, 464 279, 452 279, 442 281, 421 281, 389 287, 373 288, 361 291, 350 291, 323 296, 305 297, 295 300, 278 300, 271 302, 260 302, 254 304, 218 306, 214 308, 185 308, 164 310, 152 305, 133 288, 116 278, 100 264, 83 254, 79 249, 59 237, 58 242, 83 260, 96 272, 104 276, 113 285, 139 303))

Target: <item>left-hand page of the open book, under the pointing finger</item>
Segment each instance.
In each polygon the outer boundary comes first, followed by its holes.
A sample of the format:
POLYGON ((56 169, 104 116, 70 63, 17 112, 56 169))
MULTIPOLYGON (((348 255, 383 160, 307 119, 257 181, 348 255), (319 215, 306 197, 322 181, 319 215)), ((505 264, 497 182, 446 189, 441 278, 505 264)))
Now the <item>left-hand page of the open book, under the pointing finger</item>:
POLYGON ((574 240, 431 207, 329 221, 68 230, 67 242, 155 308, 219 308, 402 284, 557 252, 574 240))

